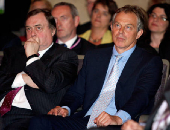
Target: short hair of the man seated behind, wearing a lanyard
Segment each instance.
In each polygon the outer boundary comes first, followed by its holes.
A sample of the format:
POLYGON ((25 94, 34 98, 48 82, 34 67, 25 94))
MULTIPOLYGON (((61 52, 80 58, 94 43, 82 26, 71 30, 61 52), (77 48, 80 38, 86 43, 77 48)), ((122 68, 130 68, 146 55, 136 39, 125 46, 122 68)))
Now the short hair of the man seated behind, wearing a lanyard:
MULTIPOLYGON (((70 10, 71 10, 71 14, 72 14, 72 17, 73 17, 73 18, 75 18, 76 16, 79 16, 79 13, 78 13, 77 8, 76 8, 73 4, 71 4, 71 3, 59 2, 59 3, 57 3, 57 4, 54 5, 53 9, 54 9, 55 7, 58 7, 58 6, 68 6, 68 7, 70 8, 70 10)), ((52 9, 52 10, 53 10, 53 9, 52 9)))

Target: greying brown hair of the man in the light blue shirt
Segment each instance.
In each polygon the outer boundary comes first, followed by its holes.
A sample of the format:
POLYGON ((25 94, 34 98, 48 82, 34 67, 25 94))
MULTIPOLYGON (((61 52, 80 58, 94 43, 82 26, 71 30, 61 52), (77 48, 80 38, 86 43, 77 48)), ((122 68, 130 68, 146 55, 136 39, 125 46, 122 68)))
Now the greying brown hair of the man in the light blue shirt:
POLYGON ((145 30, 145 28, 147 28, 148 17, 146 11, 143 8, 137 5, 125 5, 124 7, 119 8, 116 11, 116 13, 113 16, 112 22, 114 22, 116 15, 120 12, 134 13, 137 16, 138 18, 137 31, 140 31, 141 29, 145 30))

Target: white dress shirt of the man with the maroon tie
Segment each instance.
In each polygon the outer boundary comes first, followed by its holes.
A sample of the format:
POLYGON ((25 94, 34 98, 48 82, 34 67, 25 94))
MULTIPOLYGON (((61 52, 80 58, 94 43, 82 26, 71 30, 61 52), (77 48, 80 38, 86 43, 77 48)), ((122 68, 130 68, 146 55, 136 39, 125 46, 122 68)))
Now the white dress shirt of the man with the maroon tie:
MULTIPOLYGON (((53 43, 45 50, 42 50, 42 51, 39 51, 39 57, 33 57, 31 59, 29 59, 27 62, 26 62, 26 66, 31 64, 32 62, 36 61, 36 60, 39 60, 43 55, 44 53, 49 49, 51 48, 51 46, 53 45, 53 43)), ((12 106, 16 106, 16 107, 19 107, 19 108, 25 108, 25 109, 31 109, 31 106, 30 104, 28 103, 28 100, 25 96, 25 91, 24 91, 24 85, 25 85, 25 82, 22 78, 22 74, 24 74, 25 72, 22 71, 20 73, 18 73, 13 81, 13 84, 11 86, 11 88, 17 88, 17 87, 20 87, 20 86, 23 86, 20 91, 16 94, 13 102, 12 102, 12 106)), ((2 105, 3 101, 4 101, 5 97, 0 101, 0 106, 2 105)))

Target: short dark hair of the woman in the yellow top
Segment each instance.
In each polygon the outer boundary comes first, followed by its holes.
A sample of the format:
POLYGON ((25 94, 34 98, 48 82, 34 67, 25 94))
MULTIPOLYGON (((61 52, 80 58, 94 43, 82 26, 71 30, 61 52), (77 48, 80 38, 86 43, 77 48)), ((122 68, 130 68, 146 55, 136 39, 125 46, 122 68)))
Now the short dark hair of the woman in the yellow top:
MULTIPOLYGON (((92 8, 92 11, 96 8, 96 6, 98 4, 101 4, 103 6, 106 6, 108 7, 108 10, 109 10, 109 14, 111 15, 111 18, 113 17, 113 14, 116 12, 116 10, 118 9, 118 6, 116 4, 115 1, 113 0, 96 0, 94 5, 93 5, 93 8, 92 8)), ((110 19, 111 21, 112 19, 110 19)))

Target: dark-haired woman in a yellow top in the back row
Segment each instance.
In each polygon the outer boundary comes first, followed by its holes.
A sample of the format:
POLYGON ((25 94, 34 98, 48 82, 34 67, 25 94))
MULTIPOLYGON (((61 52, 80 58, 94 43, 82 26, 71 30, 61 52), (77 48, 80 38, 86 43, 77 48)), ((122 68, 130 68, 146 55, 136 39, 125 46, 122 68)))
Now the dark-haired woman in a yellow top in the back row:
POLYGON ((92 9, 91 29, 81 34, 80 37, 96 46, 112 43, 112 34, 108 27, 116 10, 117 5, 113 0, 97 0, 92 9))

